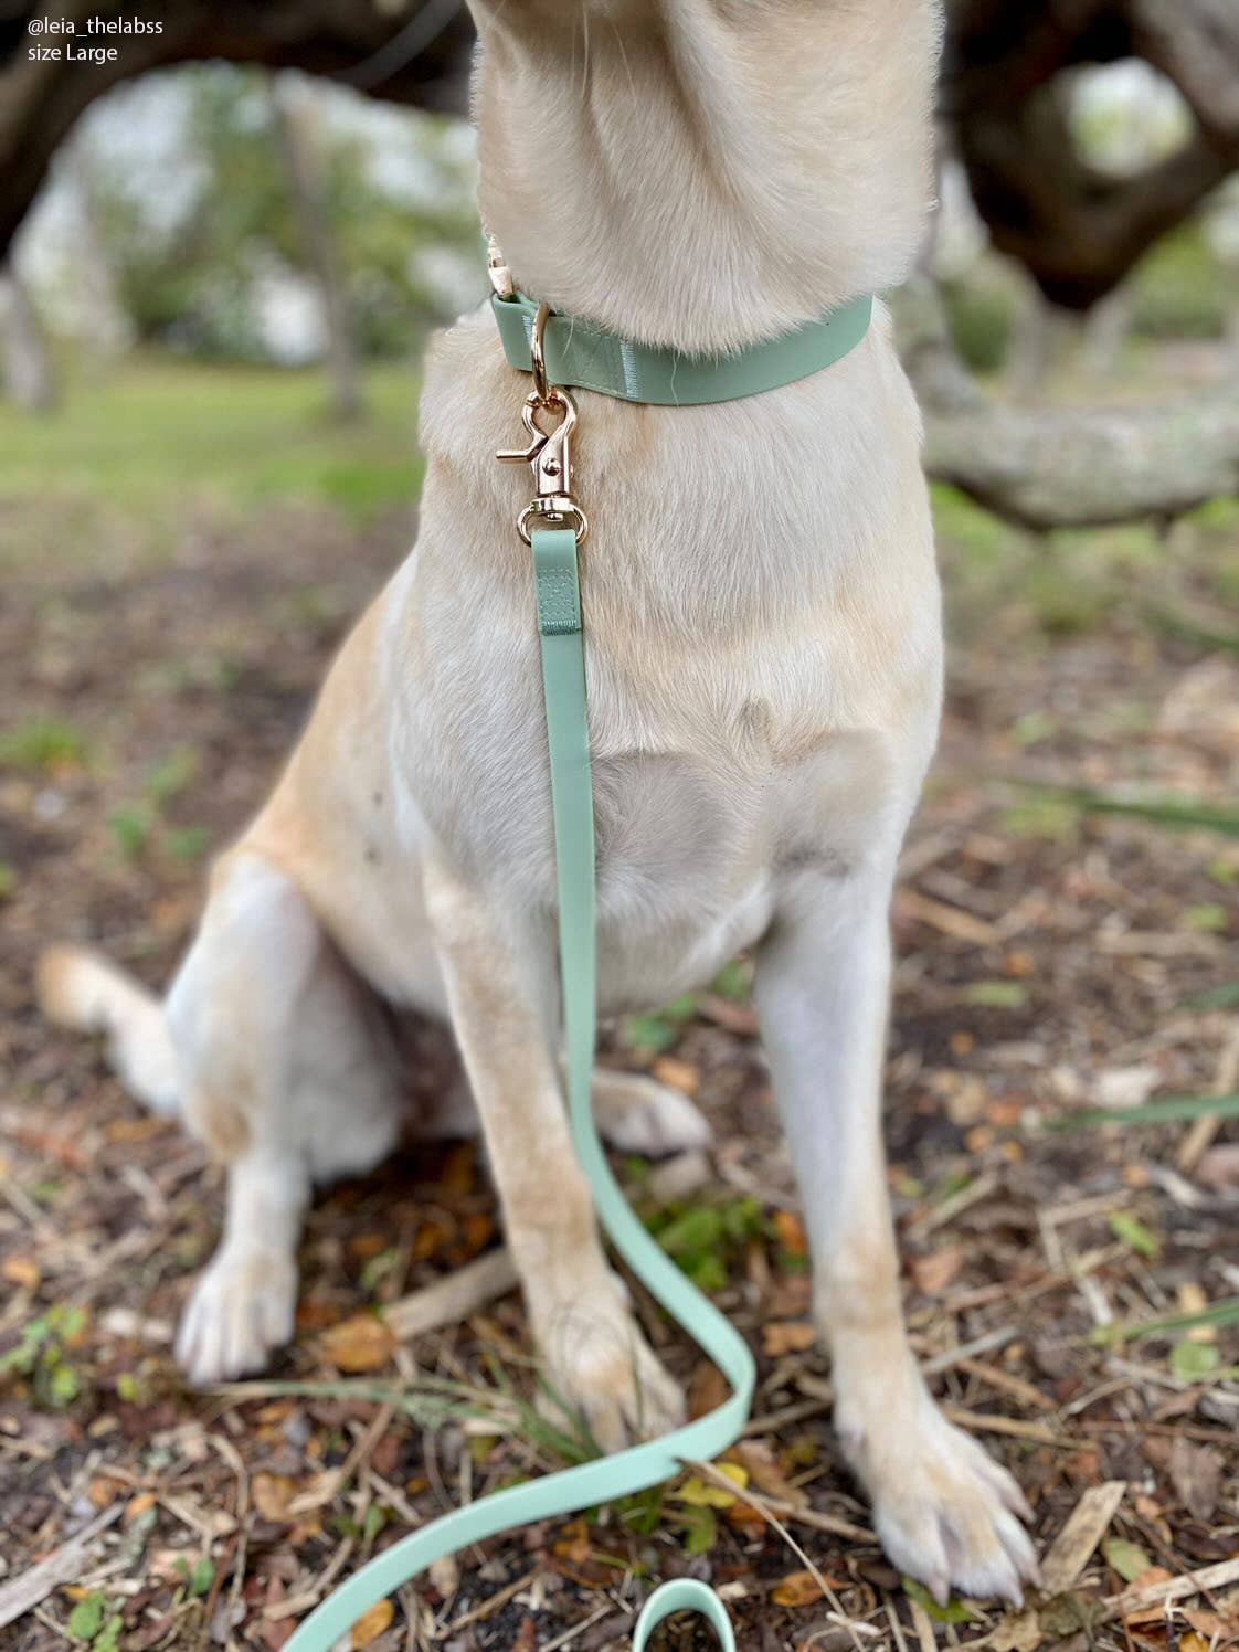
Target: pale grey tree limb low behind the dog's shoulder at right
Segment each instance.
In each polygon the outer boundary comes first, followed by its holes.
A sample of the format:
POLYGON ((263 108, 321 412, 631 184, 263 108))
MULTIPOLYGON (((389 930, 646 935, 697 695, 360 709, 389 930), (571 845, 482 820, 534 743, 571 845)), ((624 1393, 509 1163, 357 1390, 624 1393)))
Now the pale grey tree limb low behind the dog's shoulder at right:
POLYGON ((1239 494, 1239 390, 1138 408, 1039 408, 986 395, 957 360, 932 282, 897 301, 925 416, 925 469, 996 515, 1047 530, 1170 520, 1239 494))

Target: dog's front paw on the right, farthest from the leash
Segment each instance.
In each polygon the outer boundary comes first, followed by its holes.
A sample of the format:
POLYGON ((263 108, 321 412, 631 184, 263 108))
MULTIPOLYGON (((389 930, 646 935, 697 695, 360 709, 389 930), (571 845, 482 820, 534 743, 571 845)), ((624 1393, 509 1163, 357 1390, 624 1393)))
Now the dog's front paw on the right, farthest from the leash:
POLYGON ((952 1591, 1021 1606, 1041 1571, 1021 1526, 1024 1493, 985 1450, 950 1424, 928 1393, 910 1427, 887 1419, 881 1441, 839 1419, 839 1437, 874 1505, 874 1528, 890 1561, 942 1604, 952 1591))

